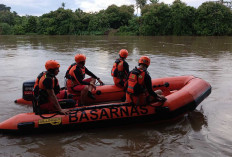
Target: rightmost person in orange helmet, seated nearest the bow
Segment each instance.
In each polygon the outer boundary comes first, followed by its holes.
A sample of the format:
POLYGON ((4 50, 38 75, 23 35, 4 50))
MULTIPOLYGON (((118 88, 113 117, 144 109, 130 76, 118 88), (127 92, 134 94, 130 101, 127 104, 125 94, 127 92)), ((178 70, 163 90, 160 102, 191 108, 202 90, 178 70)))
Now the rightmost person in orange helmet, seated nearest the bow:
POLYGON ((148 105, 151 101, 165 101, 161 90, 153 91, 151 77, 147 71, 150 65, 150 58, 142 56, 135 67, 128 75, 126 86, 126 102, 136 105, 148 105), (151 97, 152 96, 152 97, 151 97))

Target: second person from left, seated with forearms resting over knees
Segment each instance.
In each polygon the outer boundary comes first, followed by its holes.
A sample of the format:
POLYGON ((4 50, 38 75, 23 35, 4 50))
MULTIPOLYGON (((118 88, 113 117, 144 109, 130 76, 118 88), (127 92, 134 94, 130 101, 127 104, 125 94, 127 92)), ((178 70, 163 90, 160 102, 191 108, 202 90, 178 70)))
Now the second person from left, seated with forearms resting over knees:
POLYGON ((98 80, 100 85, 103 85, 101 79, 85 67, 85 61, 86 56, 84 54, 77 54, 75 56, 75 63, 69 66, 65 75, 67 78, 68 91, 70 93, 81 92, 81 97, 78 102, 79 105, 87 104, 87 96, 91 99, 95 99, 92 90, 96 89, 96 80, 98 80), (91 76, 91 78, 84 79, 85 74, 91 76))

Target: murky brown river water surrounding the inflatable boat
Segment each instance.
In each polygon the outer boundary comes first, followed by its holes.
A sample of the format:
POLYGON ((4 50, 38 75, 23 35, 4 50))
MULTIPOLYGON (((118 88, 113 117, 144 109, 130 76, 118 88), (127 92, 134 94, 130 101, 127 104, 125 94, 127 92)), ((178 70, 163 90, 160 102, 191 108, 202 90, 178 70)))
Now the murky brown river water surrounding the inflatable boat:
POLYGON ((194 75, 212 85, 211 95, 171 123, 0 134, 0 156, 232 156, 232 37, 0 36, 0 121, 32 111, 14 100, 47 60, 61 64, 61 86, 76 53, 84 53, 87 68, 112 84, 111 67, 122 48, 129 51, 130 70, 148 55, 152 78, 194 75))

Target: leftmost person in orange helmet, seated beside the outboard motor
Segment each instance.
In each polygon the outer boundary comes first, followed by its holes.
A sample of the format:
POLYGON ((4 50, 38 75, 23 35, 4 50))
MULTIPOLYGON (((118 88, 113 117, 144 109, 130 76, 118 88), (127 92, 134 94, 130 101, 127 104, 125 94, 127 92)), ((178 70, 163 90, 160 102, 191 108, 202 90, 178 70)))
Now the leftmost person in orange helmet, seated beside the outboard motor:
POLYGON ((55 60, 48 60, 45 63, 47 71, 42 72, 36 79, 34 85, 34 101, 33 109, 36 114, 58 112, 60 114, 67 114, 68 109, 74 107, 76 102, 74 100, 60 100, 58 101, 56 94, 60 92, 60 86, 56 75, 59 73, 60 64, 55 60), (64 106, 60 105, 62 102, 64 106))

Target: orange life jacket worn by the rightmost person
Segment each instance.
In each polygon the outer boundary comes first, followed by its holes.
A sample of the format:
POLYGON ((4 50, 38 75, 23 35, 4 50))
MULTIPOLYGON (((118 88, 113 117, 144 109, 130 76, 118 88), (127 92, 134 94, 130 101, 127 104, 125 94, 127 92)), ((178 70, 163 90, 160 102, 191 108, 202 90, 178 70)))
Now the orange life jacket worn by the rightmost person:
POLYGON ((145 92, 145 74, 146 72, 140 68, 135 68, 131 71, 128 78, 127 93, 138 96, 145 92))

